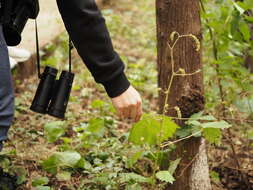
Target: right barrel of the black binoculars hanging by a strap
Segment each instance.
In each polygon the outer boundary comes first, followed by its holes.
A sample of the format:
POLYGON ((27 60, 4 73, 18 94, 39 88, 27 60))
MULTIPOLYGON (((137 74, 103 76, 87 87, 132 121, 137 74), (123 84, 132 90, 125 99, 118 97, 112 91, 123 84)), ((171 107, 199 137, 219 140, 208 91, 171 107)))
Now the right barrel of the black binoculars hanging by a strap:
POLYGON ((59 81, 56 83, 56 93, 52 96, 52 101, 49 105, 48 114, 54 117, 63 119, 69 96, 72 88, 72 83, 74 80, 74 74, 63 71, 61 73, 59 81))

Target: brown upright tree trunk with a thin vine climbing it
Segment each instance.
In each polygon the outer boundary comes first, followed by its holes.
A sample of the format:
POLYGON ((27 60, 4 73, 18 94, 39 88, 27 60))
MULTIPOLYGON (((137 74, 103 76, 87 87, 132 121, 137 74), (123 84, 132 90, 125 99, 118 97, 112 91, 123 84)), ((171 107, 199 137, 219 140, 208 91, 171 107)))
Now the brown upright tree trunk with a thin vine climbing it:
MULTIPOLYGON (((200 7, 198 0, 156 0, 157 39, 158 39, 158 83, 163 90, 168 88, 168 77, 172 75, 171 57, 167 42, 170 34, 177 31, 180 35, 193 34, 201 40, 200 7)), ((193 73, 202 68, 201 51, 196 52, 191 38, 182 38, 174 49, 175 71, 182 68, 193 73)), ((165 94, 160 91, 160 111, 164 107, 165 94)), ((177 116, 180 108, 182 117, 204 109, 203 76, 201 73, 176 77, 169 94, 169 116, 177 116)), ((183 123, 177 121, 182 127, 183 123)), ((168 190, 211 190, 205 141, 191 138, 177 144, 173 155, 182 158, 176 172, 176 182, 168 190)))

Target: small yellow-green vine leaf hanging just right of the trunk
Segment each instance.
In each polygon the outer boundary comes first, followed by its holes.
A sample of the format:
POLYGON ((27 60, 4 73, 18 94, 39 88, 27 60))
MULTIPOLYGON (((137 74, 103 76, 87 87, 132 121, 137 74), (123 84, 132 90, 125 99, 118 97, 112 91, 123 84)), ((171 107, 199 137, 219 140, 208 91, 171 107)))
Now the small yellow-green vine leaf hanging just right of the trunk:
POLYGON ((210 143, 220 144, 221 141, 221 130, 218 128, 205 128, 203 130, 203 136, 210 143))

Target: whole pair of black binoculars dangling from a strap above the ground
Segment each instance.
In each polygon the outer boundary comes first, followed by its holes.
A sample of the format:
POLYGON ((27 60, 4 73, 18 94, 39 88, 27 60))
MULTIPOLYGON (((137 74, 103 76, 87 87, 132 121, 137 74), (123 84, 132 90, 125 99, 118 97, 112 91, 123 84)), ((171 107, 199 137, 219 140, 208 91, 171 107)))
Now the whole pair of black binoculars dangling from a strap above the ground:
POLYGON ((55 68, 49 66, 45 68, 30 109, 64 119, 74 74, 62 71, 59 80, 56 80, 57 73, 58 70, 55 68))

